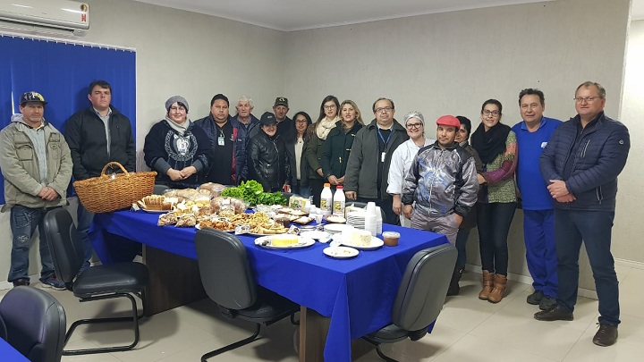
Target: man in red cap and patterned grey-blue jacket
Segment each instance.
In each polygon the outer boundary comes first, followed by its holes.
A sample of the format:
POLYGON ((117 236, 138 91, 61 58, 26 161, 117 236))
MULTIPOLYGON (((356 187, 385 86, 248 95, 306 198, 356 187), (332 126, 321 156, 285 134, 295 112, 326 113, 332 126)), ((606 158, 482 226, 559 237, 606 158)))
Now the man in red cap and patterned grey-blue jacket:
POLYGON ((474 158, 454 142, 461 122, 444 115, 436 121, 436 142, 420 148, 402 188, 402 213, 414 229, 445 234, 453 245, 459 225, 479 192, 474 158))

